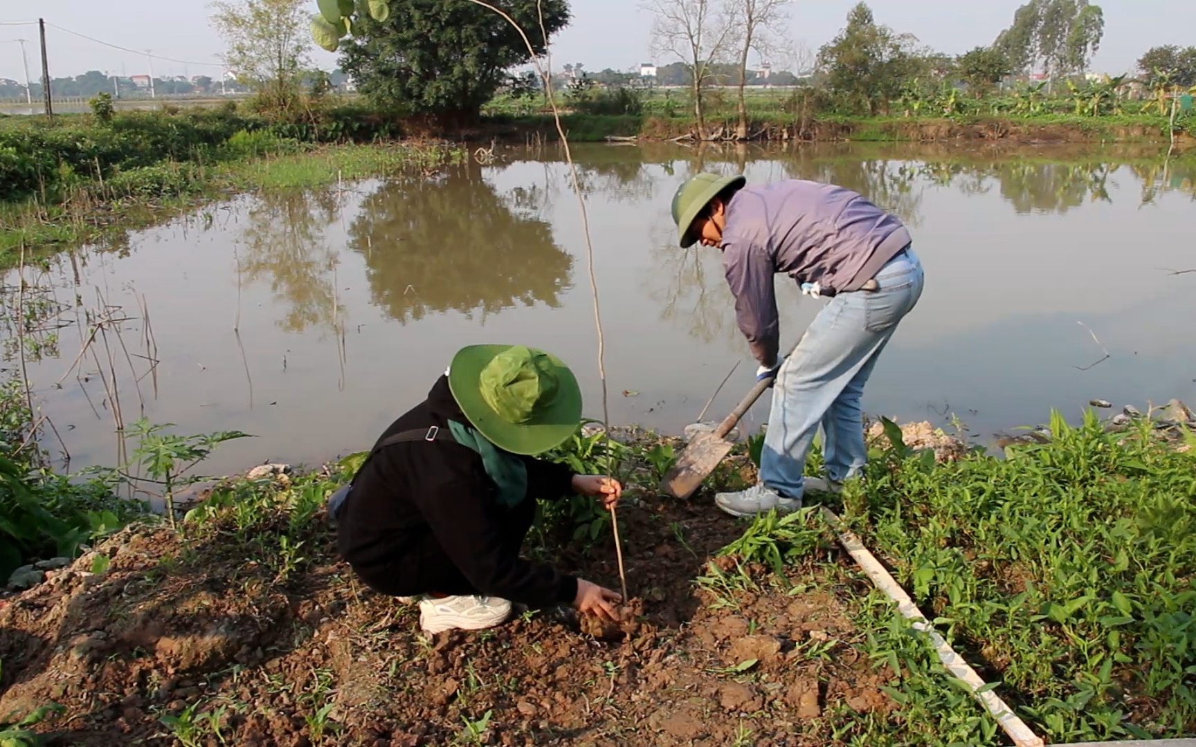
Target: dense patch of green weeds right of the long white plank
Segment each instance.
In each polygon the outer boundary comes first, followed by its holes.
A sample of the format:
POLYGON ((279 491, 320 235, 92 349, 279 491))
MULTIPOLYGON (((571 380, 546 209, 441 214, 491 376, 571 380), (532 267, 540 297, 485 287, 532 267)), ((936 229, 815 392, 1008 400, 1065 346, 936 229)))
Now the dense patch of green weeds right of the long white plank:
POLYGON ((1052 415, 1045 443, 948 465, 901 445, 852 521, 1052 741, 1196 729, 1196 455, 1143 418, 1052 415))

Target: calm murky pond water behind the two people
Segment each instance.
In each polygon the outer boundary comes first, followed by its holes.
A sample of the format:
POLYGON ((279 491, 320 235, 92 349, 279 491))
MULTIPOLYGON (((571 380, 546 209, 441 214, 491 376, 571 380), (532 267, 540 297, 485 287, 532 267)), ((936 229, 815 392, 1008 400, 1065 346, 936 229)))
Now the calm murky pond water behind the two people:
MULTIPOLYGON (((554 148, 498 155, 432 178, 246 195, 26 268, 26 313, 57 327, 26 341, 41 353, 28 374, 71 467, 120 459, 116 411, 257 436, 218 451, 213 472, 367 448, 480 342, 556 353, 600 418, 568 169, 554 148)), ((718 251, 673 240, 670 201, 700 169, 836 182, 908 222, 926 293, 875 369, 871 414, 957 415, 987 440, 1051 408, 1076 418, 1092 398, 1196 400, 1196 273, 1172 274, 1196 268, 1196 188, 1157 151, 596 145, 575 158, 615 423, 677 433, 737 361, 708 417, 752 384, 718 251)), ((792 344, 822 302, 777 286, 792 344)), ((53 434, 48 446, 61 451, 53 434)))

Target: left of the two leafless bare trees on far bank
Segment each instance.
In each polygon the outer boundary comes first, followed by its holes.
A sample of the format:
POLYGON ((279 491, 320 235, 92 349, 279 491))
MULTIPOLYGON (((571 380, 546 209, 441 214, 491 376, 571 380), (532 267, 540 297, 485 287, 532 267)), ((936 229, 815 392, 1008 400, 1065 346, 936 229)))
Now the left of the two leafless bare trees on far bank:
POLYGON ((643 0, 643 7, 655 16, 653 51, 677 57, 690 73, 694 117, 698 135, 706 139, 702 92, 714 76, 713 66, 725 62, 734 49, 736 19, 727 14, 725 0, 643 0))

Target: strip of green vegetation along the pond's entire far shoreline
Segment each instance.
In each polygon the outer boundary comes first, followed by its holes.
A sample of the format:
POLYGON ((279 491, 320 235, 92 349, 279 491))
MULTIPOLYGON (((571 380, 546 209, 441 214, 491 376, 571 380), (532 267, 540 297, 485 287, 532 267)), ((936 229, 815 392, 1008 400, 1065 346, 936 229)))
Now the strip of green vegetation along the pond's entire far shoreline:
MULTIPOLYGON (((500 108, 501 109, 501 108, 500 108)), ((509 108, 508 108, 509 109, 509 108)), ((709 133, 724 137, 713 116, 709 133)), ((575 142, 679 143, 706 148, 691 120, 660 115, 566 114, 575 142)), ((752 117, 751 146, 805 142, 938 142, 976 146, 1134 143, 1168 155, 1165 117, 840 117, 801 122, 783 112, 752 117)), ((396 172, 432 174, 469 158, 487 163, 499 145, 556 140, 550 115, 483 116, 444 133, 395 114, 349 105, 291 121, 215 109, 0 117, 0 262, 153 225, 205 202, 258 189, 297 189, 396 172)), ((716 146, 716 140, 709 145, 716 146)), ((742 146, 745 141, 732 145, 742 146)), ((1180 133, 1170 153, 1190 158, 1180 133)), ((684 153, 679 151, 678 153, 684 153)))

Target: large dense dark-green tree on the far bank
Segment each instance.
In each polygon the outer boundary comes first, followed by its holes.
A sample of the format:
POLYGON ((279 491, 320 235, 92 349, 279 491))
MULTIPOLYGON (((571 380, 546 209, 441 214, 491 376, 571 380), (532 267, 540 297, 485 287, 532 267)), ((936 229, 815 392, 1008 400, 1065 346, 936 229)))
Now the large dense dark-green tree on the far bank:
MULTIPOLYGON (((511 0, 502 10, 538 55, 547 48, 544 31, 551 36, 569 20, 565 0, 511 0)), ((468 0, 393 0, 383 20, 359 13, 341 50, 341 68, 362 93, 445 125, 476 121, 508 82, 507 71, 531 59, 506 19, 468 0)))

